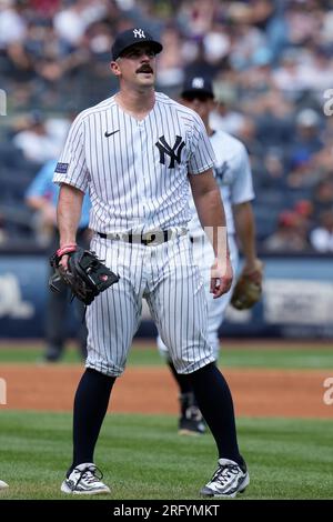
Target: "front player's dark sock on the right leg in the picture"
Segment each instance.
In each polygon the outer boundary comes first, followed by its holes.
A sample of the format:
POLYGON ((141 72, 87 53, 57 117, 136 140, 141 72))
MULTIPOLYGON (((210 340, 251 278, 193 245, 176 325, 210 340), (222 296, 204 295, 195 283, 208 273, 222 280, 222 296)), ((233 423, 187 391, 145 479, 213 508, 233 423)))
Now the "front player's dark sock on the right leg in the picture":
POLYGON ((214 363, 190 374, 199 408, 218 445, 219 458, 244 464, 240 455, 229 385, 214 363))

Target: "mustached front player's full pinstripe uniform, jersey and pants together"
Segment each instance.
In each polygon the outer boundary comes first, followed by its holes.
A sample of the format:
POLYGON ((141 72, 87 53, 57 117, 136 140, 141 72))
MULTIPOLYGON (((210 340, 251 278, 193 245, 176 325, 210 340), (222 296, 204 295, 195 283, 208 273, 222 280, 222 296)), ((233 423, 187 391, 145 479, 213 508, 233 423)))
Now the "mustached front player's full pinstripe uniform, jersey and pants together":
MULTIPOLYGON (((89 190, 92 230, 143 233, 186 225, 192 217, 188 173, 210 169, 214 153, 198 114, 157 93, 154 108, 141 121, 114 97, 83 111, 59 162, 56 182, 89 190)), ((144 247, 94 234, 91 248, 120 281, 88 308, 88 368, 122 373, 143 298, 179 372, 214 360, 203 281, 186 235, 144 247)))

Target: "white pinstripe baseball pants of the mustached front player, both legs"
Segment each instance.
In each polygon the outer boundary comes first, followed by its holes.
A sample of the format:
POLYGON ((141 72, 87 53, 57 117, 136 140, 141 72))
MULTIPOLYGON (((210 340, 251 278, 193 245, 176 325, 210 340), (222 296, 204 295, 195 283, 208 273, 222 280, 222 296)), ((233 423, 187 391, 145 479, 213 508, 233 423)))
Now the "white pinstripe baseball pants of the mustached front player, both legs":
POLYGON ((120 281, 88 308, 88 368, 109 375, 122 373, 139 327, 142 298, 180 373, 214 360, 206 341, 203 281, 186 235, 151 248, 94 237, 91 248, 120 274, 120 281))

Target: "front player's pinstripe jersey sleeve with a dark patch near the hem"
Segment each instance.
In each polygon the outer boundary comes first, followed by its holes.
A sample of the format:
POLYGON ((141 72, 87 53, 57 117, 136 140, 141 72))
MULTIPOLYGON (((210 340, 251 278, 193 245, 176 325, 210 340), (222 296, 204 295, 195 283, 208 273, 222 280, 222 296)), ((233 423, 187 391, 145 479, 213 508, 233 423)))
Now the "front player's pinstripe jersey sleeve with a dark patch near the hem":
POLYGON ((81 113, 70 128, 54 170, 53 182, 67 183, 85 192, 89 179, 84 150, 84 121, 81 113))

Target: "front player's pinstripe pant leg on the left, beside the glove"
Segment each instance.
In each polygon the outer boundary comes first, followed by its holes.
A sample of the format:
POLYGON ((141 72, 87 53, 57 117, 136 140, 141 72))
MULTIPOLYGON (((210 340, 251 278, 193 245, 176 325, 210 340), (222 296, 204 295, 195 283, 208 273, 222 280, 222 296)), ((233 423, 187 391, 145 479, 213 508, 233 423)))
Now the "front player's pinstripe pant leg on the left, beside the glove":
POLYGON ((138 245, 93 238, 91 248, 120 275, 87 310, 87 368, 118 377, 125 367, 142 308, 142 260, 138 245))

